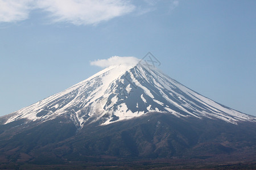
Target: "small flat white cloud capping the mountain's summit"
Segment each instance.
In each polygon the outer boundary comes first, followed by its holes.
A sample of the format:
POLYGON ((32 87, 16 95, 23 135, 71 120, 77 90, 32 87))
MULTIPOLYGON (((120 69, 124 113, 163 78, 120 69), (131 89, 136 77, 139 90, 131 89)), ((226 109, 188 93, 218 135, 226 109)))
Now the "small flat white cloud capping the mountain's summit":
POLYGON ((113 56, 108 59, 97 59, 96 61, 91 61, 90 65, 99 66, 99 67, 109 67, 114 65, 136 65, 139 62, 139 59, 136 57, 119 57, 113 56))

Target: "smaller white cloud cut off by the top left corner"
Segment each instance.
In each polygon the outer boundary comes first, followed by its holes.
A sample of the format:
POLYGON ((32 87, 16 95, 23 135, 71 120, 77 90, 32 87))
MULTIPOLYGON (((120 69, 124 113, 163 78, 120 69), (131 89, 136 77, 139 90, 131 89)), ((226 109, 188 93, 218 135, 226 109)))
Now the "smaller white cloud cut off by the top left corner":
POLYGON ((18 22, 28 18, 33 0, 0 0, 0 22, 18 22))

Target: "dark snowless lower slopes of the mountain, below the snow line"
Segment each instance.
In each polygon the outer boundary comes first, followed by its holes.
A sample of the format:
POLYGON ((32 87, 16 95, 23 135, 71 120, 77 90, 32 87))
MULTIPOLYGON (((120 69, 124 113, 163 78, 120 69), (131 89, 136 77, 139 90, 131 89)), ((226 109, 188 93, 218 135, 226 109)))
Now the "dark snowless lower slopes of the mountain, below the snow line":
POLYGON ((104 126, 93 122, 79 131, 65 114, 37 126, 29 122, 16 128, 4 127, 8 125, 0 126, 0 131, 9 134, 0 133, 0 168, 8 169, 14 163, 15 168, 23 164, 52 168, 55 164, 57 168, 70 166, 68 169, 109 165, 125 165, 122 169, 226 165, 230 169, 230 164, 241 168, 256 163, 253 122, 234 125, 222 120, 152 112, 104 126))

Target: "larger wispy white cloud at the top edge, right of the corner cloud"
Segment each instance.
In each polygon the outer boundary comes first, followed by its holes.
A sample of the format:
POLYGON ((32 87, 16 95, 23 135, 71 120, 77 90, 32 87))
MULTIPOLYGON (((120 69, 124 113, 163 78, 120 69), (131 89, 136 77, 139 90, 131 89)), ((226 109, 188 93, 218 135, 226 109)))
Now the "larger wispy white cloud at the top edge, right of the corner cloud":
POLYGON ((38 8, 49 12, 53 22, 87 25, 125 15, 135 6, 121 0, 40 0, 38 8))

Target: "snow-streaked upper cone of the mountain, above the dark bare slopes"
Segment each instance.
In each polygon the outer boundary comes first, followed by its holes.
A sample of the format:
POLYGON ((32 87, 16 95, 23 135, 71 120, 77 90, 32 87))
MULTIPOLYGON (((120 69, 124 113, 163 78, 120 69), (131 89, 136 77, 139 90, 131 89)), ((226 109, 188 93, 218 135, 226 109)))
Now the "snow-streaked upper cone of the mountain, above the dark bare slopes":
POLYGON ((217 118, 233 124, 256 121, 142 63, 109 66, 67 90, 1 118, 8 124, 20 119, 47 121, 66 114, 81 128, 93 121, 106 125, 149 112, 217 118))

